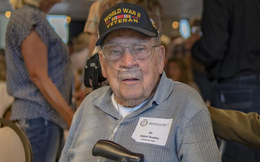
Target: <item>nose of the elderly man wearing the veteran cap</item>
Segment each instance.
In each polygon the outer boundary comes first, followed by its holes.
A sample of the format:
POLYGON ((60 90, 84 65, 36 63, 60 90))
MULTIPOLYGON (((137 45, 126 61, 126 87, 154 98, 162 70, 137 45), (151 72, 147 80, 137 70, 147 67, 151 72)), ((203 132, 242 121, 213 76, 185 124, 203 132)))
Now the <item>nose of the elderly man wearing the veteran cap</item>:
POLYGON ((133 68, 133 66, 136 66, 137 65, 137 62, 136 62, 136 59, 135 56, 133 56, 130 52, 130 49, 129 48, 125 48, 124 49, 124 53, 123 53, 123 56, 122 56, 122 62, 121 62, 121 67, 122 68, 128 68, 128 69, 131 69, 133 68))

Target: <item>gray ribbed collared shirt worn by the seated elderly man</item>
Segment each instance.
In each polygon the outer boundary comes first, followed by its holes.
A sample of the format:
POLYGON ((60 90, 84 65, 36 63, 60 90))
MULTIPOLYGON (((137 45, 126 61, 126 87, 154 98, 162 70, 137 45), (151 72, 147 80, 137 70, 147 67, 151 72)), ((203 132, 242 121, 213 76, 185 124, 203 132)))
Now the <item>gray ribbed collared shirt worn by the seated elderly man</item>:
MULTIPOLYGON (((119 113, 111 102, 112 90, 101 87, 89 94, 75 113, 60 162, 96 162, 91 154, 99 139, 109 139, 119 113)), ((165 133, 165 132, 161 132, 165 133)), ((145 155, 145 162, 221 161, 209 112, 191 87, 167 78, 163 72, 155 95, 123 118, 113 141, 145 155), (140 117, 173 119, 165 146, 131 138, 140 117)), ((110 161, 102 158, 102 161, 110 161)))

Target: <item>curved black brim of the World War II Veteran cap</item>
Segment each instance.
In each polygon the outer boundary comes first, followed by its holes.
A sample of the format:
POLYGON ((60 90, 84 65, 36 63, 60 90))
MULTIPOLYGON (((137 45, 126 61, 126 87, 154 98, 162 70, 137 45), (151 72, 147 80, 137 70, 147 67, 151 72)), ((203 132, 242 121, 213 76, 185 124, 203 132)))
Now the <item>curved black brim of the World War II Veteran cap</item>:
POLYGON ((112 31, 115 31, 117 29, 132 29, 134 31, 137 31, 137 32, 140 32, 142 34, 145 34, 149 37, 155 37, 157 34, 149 31, 149 30, 146 30, 146 29, 143 29, 143 28, 140 28, 140 27, 135 27, 135 26, 121 26, 121 27, 115 27, 107 32, 105 32, 98 40, 97 40, 97 43, 96 43, 96 46, 100 46, 101 43, 103 42, 103 40, 105 39, 105 37, 112 31))

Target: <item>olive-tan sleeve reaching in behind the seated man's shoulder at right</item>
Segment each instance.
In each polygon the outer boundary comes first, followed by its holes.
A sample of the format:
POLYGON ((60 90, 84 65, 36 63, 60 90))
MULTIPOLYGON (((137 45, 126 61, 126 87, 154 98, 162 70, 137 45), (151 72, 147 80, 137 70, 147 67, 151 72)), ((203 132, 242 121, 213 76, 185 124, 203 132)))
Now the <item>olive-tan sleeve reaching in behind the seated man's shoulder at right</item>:
POLYGON ((260 115, 207 107, 214 135, 260 149, 260 115))

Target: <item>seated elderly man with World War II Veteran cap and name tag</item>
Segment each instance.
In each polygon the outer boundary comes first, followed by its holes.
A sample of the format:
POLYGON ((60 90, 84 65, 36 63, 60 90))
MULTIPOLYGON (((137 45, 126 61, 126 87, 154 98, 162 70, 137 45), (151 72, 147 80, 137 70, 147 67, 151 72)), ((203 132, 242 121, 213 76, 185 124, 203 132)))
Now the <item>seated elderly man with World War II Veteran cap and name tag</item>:
POLYGON ((221 161, 203 100, 166 78, 159 30, 145 10, 118 3, 103 13, 98 33, 102 74, 110 86, 84 99, 60 161, 98 161, 91 151, 99 139, 143 153, 147 162, 221 161))

